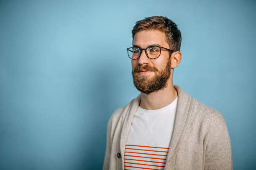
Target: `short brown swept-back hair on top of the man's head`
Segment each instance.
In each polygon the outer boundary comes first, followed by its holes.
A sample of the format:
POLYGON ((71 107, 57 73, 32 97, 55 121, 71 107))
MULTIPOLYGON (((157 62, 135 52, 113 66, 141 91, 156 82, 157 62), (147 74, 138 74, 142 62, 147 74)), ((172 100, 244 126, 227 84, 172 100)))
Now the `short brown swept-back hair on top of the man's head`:
POLYGON ((181 32, 177 25, 170 19, 163 16, 152 16, 139 20, 133 27, 133 39, 137 32, 142 30, 160 30, 166 35, 166 42, 171 50, 179 51, 181 45, 181 32))

